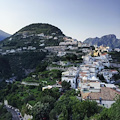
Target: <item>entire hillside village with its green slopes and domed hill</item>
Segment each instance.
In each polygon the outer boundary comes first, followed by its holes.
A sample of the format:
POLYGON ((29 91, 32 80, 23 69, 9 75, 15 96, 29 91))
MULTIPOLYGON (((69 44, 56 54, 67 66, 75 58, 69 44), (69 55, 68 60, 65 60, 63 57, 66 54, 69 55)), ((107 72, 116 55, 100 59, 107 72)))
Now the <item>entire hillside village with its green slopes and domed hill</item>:
POLYGON ((119 48, 26 27, 0 43, 0 104, 20 120, 114 118, 109 113, 119 104, 119 55, 119 48))

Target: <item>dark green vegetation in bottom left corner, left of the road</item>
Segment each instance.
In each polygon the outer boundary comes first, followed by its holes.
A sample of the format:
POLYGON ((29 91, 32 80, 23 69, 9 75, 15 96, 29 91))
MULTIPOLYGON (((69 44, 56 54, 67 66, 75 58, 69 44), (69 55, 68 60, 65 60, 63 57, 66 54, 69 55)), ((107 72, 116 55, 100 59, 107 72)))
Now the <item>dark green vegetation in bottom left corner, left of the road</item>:
POLYGON ((12 120, 12 115, 9 113, 3 105, 0 105, 0 120, 12 120))

